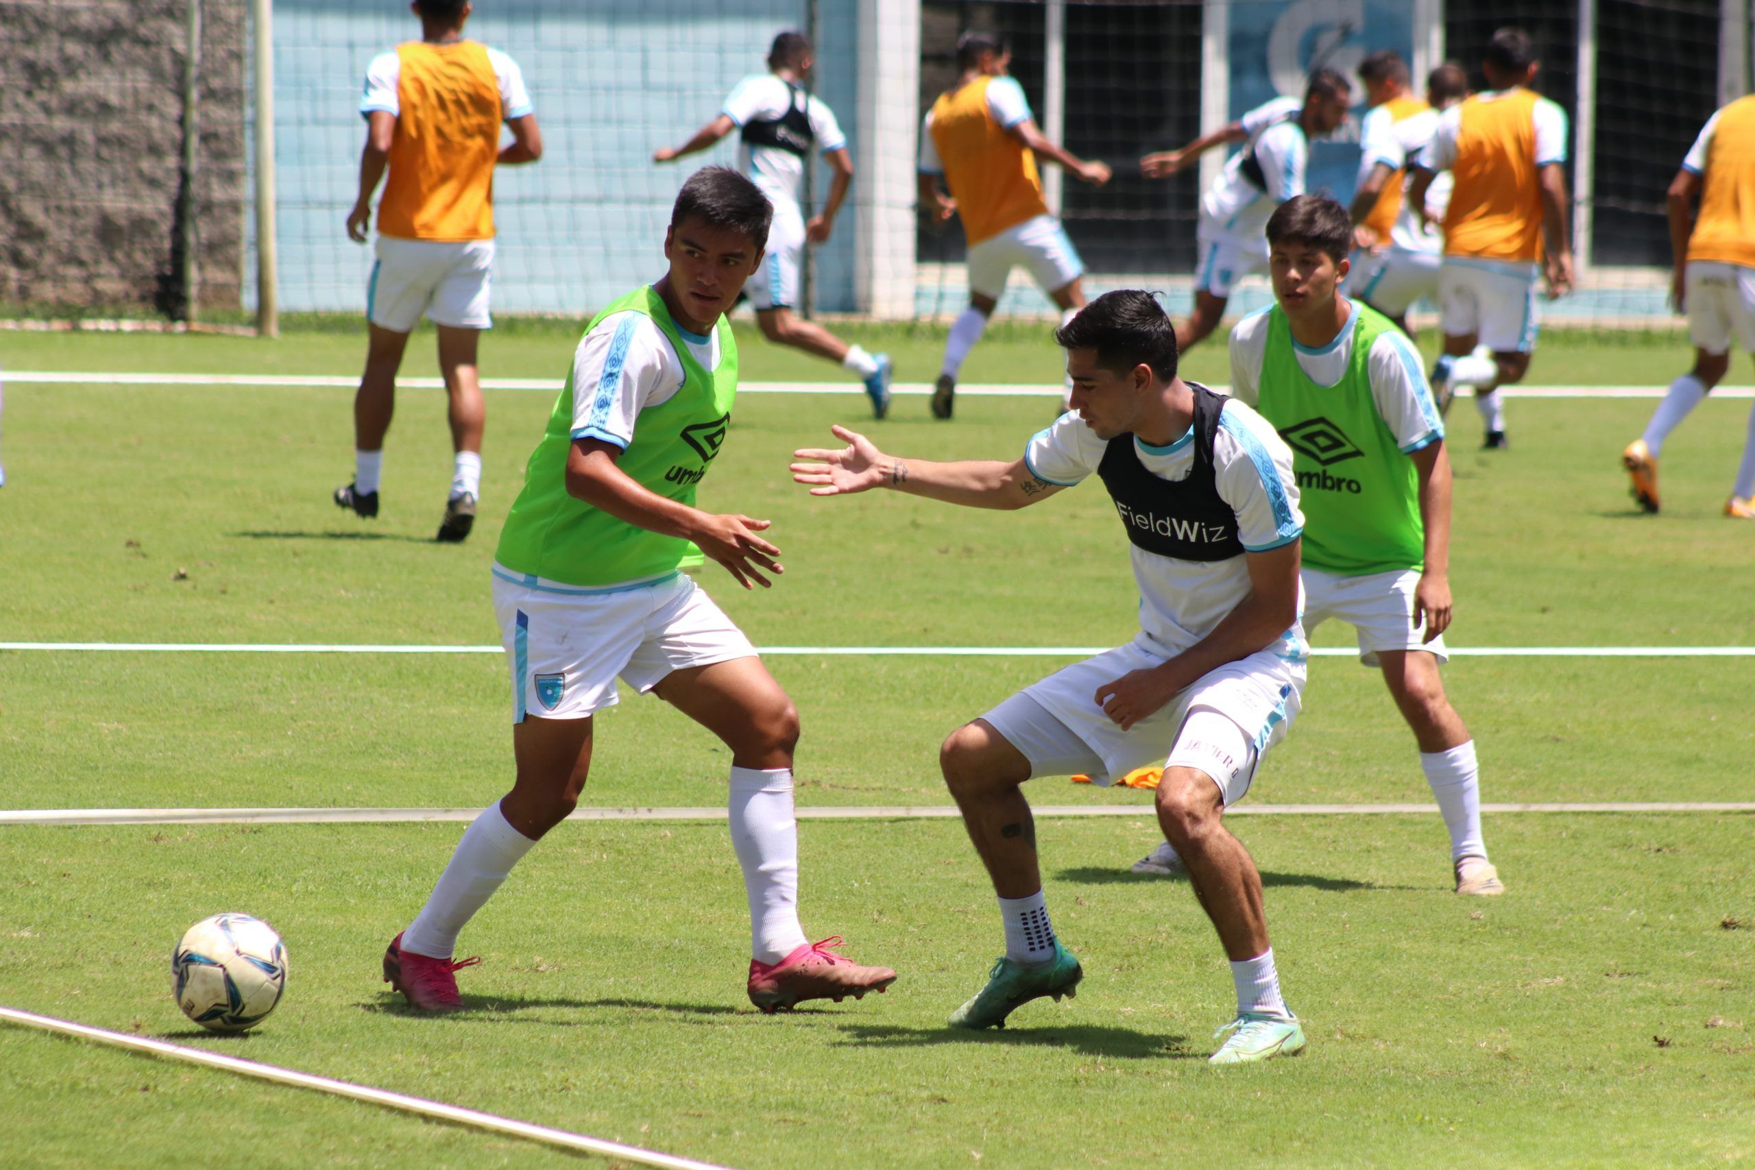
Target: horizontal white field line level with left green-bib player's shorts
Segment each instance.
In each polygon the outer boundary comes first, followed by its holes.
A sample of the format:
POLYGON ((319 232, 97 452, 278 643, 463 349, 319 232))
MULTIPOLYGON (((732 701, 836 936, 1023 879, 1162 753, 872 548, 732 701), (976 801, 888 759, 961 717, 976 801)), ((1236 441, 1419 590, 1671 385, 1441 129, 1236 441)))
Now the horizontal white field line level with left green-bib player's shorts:
MULTIPOLYGON (((1090 658, 1111 646, 760 646, 758 654, 869 658, 1090 658)), ((504 654, 502 646, 370 646, 355 642, 0 642, 0 653, 100 654, 504 654)), ((1755 646, 1451 646, 1451 658, 1755 658, 1755 646)), ((1358 658, 1348 646, 1314 658, 1358 658)))

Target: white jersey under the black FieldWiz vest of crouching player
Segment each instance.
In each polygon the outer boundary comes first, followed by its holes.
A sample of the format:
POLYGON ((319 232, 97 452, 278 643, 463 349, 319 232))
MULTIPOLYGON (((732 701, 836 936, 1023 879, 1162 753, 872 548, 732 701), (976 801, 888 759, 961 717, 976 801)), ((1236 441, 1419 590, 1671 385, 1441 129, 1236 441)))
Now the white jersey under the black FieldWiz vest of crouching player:
MULTIPOLYGON (((1023 460, 1037 479, 1076 484, 1095 474, 1107 447, 1107 440, 1099 439, 1078 410, 1069 410, 1030 439, 1023 460)), ((1195 460, 1193 428, 1167 447, 1135 439, 1134 451, 1141 465, 1158 479, 1186 479, 1195 460)), ((1213 472, 1220 498, 1237 514, 1237 539, 1246 551, 1278 549, 1304 533, 1292 449, 1267 419, 1237 400, 1225 402, 1220 412, 1213 439, 1213 472)), ((1128 553, 1139 586, 1141 631, 1165 658, 1181 654, 1213 633, 1250 595, 1250 570, 1243 556, 1185 561, 1148 553, 1132 542, 1128 553)), ((1302 609, 1300 602, 1299 610, 1302 609)), ((1281 640, 1285 646, 1276 647, 1276 653, 1306 651, 1304 631, 1297 624, 1281 640)))

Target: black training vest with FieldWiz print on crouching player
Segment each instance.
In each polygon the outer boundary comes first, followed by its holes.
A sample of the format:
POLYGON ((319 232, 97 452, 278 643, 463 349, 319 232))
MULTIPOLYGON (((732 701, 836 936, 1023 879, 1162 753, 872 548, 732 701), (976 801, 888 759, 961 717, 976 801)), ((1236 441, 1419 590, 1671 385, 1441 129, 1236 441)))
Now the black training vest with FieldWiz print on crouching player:
POLYGON ((1127 539, 1146 553, 1179 561, 1227 561, 1243 556, 1237 512, 1218 495, 1213 437, 1225 398, 1206 386, 1195 391, 1195 461, 1186 479, 1158 479, 1139 461, 1134 435, 1116 435, 1102 453, 1097 475, 1114 500, 1127 539))

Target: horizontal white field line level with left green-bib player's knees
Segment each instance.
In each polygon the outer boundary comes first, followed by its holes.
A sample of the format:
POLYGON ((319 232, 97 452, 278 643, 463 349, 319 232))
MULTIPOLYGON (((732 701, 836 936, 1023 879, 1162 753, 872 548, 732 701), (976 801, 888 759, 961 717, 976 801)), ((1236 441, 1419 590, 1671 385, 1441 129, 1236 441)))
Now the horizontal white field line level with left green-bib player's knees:
MULTIPOLYGON (((1035 805, 1039 817, 1153 816, 1150 803, 1035 805)), ((1228 816, 1436 816, 1437 805, 1237 805, 1228 816)), ((1755 802, 1486 803, 1481 812, 1755 812, 1755 802)), ((0 809, 0 826, 93 824, 409 824, 474 821, 481 809, 0 809)), ((955 805, 818 805, 800 821, 949 821, 955 805)), ((725 809, 574 809, 570 821, 725 821, 725 809)))

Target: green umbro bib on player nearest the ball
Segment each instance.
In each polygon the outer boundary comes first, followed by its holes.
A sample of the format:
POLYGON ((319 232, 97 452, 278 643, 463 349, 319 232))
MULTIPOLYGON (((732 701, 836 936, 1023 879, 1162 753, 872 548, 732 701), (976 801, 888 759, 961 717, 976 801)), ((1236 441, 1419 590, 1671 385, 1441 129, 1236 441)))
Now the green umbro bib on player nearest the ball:
MULTIPOLYGON (((732 340, 732 326, 720 317, 714 326, 720 365, 709 370, 683 344, 670 310, 649 284, 605 307, 586 332, 611 314, 630 310, 651 317, 676 349, 683 365, 683 388, 667 402, 641 410, 634 442, 616 460, 616 467, 642 488, 693 507, 695 484, 707 474, 707 465, 720 453, 732 424, 737 342, 732 340)), ((691 542, 648 531, 567 493, 574 393, 595 391, 595 386, 574 386, 572 374, 567 375, 542 442, 525 465, 525 489, 505 517, 495 560, 514 572, 583 588, 662 577, 700 565, 706 558, 691 542)))

